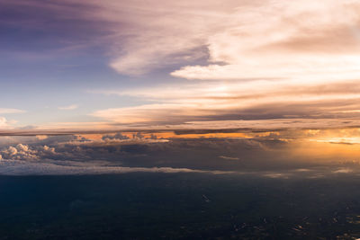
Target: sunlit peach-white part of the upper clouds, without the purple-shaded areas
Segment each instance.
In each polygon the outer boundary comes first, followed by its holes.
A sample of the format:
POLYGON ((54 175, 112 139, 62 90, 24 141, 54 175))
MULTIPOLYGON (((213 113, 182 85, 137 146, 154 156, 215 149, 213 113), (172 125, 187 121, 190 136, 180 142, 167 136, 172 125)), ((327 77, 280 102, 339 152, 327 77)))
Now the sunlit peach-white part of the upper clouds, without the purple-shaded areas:
MULTIPOLYGON (((121 11, 116 4, 109 5, 113 13, 121 11)), ((180 4, 176 11, 178 4, 163 3, 159 12, 147 5, 127 6, 135 14, 139 9, 148 13, 136 21, 130 18, 134 29, 148 31, 138 31, 129 43, 131 51, 112 67, 131 74, 137 68, 166 66, 191 49, 207 48, 208 65, 186 65, 181 58, 183 67, 171 75, 218 81, 104 91, 155 103, 95 111, 94 117, 120 123, 358 117, 360 4, 356 1, 229 1, 221 7, 201 2, 180 4), (170 22, 164 21, 166 13, 174 13, 170 22), (154 66, 146 63, 149 59, 154 66)), ((103 11, 107 7, 104 4, 103 11)), ((112 15, 112 21, 122 20, 112 15)))

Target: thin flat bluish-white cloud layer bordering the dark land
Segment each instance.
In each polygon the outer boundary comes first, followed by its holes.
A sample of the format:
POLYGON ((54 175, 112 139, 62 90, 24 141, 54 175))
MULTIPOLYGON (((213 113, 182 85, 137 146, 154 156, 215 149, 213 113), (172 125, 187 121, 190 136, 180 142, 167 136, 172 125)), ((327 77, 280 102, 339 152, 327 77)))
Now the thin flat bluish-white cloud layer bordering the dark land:
POLYGON ((193 168, 176 167, 127 167, 119 165, 109 165, 107 162, 91 161, 76 162, 64 161, 23 161, 7 160, 0 161, 0 175, 85 175, 85 174, 125 174, 125 173, 196 173, 196 174, 231 174, 247 175, 260 178, 324 178, 333 177, 331 173, 354 173, 358 174, 359 169, 337 172, 331 167, 313 168, 311 171, 219 171, 219 170, 200 170, 193 168))

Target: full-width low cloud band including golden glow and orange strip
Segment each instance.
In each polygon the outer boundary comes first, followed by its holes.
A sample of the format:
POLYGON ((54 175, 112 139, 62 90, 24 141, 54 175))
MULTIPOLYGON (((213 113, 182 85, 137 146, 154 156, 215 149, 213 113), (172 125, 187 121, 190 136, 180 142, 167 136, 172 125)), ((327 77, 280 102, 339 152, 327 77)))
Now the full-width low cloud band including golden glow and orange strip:
MULTIPOLYGON (((328 173, 336 173, 343 168, 357 173, 360 154, 356 145, 334 145, 311 139, 325 139, 337 134, 360 136, 359 129, 248 130, 244 129, 246 134, 229 134, 229 137, 221 133, 218 135, 216 131, 204 137, 196 134, 198 129, 177 136, 168 132, 144 131, 42 139, 36 136, 12 137, 0 139, 5 140, 1 144, 0 155, 3 160, 39 165, 51 161, 53 164, 69 165, 70 161, 71 165, 90 167, 86 164, 101 161, 103 164, 100 166, 105 164, 107 167, 171 167, 237 173, 270 171, 267 176, 275 176, 278 172, 289 176, 288 173, 293 174, 295 170, 296 174, 311 175, 312 171, 303 169, 313 167, 333 167, 325 171, 328 173)), ((43 170, 46 172, 45 168, 43 170)))

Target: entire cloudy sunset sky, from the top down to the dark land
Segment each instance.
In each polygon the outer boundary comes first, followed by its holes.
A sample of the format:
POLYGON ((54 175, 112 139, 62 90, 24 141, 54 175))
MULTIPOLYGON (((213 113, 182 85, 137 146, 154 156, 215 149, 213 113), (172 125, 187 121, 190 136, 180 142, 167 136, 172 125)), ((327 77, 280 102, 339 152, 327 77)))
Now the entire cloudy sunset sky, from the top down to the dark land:
POLYGON ((359 1, 0 0, 0 36, 4 173, 360 159, 359 1))

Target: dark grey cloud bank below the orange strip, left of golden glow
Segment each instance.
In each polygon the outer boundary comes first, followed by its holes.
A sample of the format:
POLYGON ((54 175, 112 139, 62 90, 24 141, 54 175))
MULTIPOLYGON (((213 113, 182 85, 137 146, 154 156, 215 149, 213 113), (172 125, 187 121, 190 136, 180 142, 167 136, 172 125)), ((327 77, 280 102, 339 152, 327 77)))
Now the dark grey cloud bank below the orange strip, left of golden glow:
MULTIPOLYGON (((199 138, 155 139, 134 134, 125 138, 121 134, 104 135, 100 140, 84 137, 50 137, 4 147, 4 159, 18 160, 103 160, 124 166, 191 167, 208 170, 230 170, 262 167, 278 162, 271 149, 283 149, 286 143, 278 139, 199 138), (241 163, 224 164, 219 156, 244 159, 241 163)), ((275 164, 276 165, 276 164, 275 164)))

